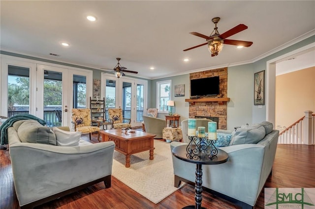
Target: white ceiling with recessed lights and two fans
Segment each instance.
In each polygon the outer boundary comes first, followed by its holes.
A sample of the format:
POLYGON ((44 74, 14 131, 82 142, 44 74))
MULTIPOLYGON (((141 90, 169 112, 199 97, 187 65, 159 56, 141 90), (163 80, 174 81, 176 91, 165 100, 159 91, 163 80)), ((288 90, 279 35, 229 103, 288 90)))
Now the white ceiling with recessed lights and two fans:
POLYGON ((127 70, 150 79, 253 62, 315 34, 314 0, 1 0, 0 9, 2 51, 96 69, 112 69, 116 57, 121 57, 127 70), (90 22, 87 15, 97 20, 90 22), (189 32, 210 35, 213 17, 221 17, 220 33, 239 24, 248 26, 229 39, 252 41, 252 46, 224 45, 215 57, 206 46, 183 52, 205 43, 189 32), (61 46, 63 41, 70 46, 61 46), (185 63, 184 58, 190 61, 185 63))

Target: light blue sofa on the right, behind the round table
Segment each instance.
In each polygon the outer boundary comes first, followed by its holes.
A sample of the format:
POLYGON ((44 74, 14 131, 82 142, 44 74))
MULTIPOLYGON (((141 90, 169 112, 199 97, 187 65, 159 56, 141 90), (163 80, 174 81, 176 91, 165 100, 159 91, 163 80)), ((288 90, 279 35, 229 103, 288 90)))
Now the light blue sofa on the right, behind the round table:
MULTIPOLYGON (((252 208, 256 204, 275 159, 279 131, 273 130, 272 124, 268 122, 262 124, 265 126, 258 124, 236 130, 234 136, 240 140, 232 141, 233 136, 229 146, 220 147, 229 155, 227 162, 202 166, 202 186, 243 209, 252 208), (264 131, 267 134, 262 136, 264 131), (263 138, 260 140, 260 137, 263 138), (236 145, 231 145, 233 142, 236 145)), ((218 132, 231 133, 232 131, 218 130, 218 132)), ((184 144, 186 143, 172 142, 171 150, 184 144)), ((174 156, 172 160, 174 186, 178 187, 181 181, 194 185, 196 165, 174 156)))

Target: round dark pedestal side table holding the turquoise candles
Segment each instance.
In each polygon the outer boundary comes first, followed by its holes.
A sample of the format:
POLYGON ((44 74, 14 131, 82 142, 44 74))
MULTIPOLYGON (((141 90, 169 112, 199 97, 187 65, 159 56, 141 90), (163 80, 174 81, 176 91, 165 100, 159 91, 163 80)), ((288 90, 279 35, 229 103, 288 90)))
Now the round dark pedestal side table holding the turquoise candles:
MULTIPOLYGON (((195 145, 192 145, 192 148, 195 145)), ((199 157, 189 157, 187 153, 187 145, 180 145, 172 150, 173 156, 178 159, 184 160, 186 162, 191 162, 196 164, 196 179, 195 179, 195 206, 186 206, 183 209, 204 209, 201 207, 202 201, 202 165, 215 165, 221 164, 228 160, 228 154, 223 150, 218 149, 218 154, 216 157, 210 159, 200 155, 199 157)))

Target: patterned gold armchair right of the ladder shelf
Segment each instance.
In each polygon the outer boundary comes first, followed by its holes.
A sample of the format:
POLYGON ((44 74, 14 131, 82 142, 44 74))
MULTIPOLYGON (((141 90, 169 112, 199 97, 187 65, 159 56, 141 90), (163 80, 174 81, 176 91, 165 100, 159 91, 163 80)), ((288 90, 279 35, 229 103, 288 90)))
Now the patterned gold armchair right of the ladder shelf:
POLYGON ((123 110, 122 108, 113 108, 108 109, 108 116, 109 121, 111 122, 113 129, 124 129, 129 128, 131 129, 131 119, 123 117, 123 110), (124 121, 128 121, 127 123, 124 121))

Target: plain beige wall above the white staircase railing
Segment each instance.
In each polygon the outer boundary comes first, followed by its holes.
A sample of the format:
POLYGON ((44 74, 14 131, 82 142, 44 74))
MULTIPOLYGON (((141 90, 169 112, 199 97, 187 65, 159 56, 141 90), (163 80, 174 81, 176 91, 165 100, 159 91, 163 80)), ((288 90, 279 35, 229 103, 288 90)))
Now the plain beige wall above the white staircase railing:
POLYGON ((315 67, 276 77, 276 127, 288 127, 315 112, 315 67))

